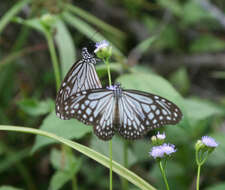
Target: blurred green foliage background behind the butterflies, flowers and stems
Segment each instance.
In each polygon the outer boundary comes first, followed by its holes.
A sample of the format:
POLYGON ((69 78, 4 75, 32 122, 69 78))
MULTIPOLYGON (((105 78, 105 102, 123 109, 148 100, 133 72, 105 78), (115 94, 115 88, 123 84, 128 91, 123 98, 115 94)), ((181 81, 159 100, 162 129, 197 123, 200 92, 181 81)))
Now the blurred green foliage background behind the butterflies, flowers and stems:
MULTIPOLYGON (((113 46, 113 81, 168 98, 182 109, 183 120, 162 129, 178 148, 167 167, 171 189, 195 189, 194 144, 206 134, 219 147, 202 169, 201 189, 225 189, 225 1, 1 0, 0 15, 1 125, 40 128, 107 155, 108 143, 98 140, 92 127, 55 116, 46 28, 52 27, 62 77, 82 47, 106 39, 113 46)), ((106 86, 105 65, 96 69, 106 86)), ((125 143, 127 166, 164 189, 148 155, 155 133, 125 143)), ((123 146, 115 136, 113 159, 121 164, 123 146)), ((114 175, 114 189, 138 189, 124 183, 114 175)), ((0 131, 0 190, 7 189, 108 189, 108 169, 51 139, 0 131)))

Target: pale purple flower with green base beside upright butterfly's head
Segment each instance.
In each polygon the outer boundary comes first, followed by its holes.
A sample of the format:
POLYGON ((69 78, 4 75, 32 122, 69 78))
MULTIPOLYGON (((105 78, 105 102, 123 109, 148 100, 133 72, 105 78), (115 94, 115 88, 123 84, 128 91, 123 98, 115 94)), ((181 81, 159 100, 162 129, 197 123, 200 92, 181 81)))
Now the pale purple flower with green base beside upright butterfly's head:
POLYGON ((95 47, 96 48, 94 50, 94 53, 100 59, 106 59, 112 55, 112 47, 109 45, 109 42, 107 42, 106 40, 97 42, 95 44, 95 47))

